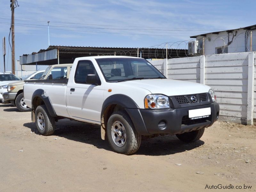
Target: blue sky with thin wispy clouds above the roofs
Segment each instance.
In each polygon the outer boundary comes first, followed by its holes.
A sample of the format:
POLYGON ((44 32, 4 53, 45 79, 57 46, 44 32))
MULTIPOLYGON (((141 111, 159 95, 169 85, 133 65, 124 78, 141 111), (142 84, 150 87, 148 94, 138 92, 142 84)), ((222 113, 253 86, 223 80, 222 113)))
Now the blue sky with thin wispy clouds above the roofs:
MULTIPOLYGON (((0 37, 6 36, 8 70, 11 69, 9 2, 1 0, 0 6, 0 37)), ((22 54, 48 47, 48 20, 51 45, 135 48, 256 24, 255 0, 18 0, 18 4, 16 60, 22 54)))

